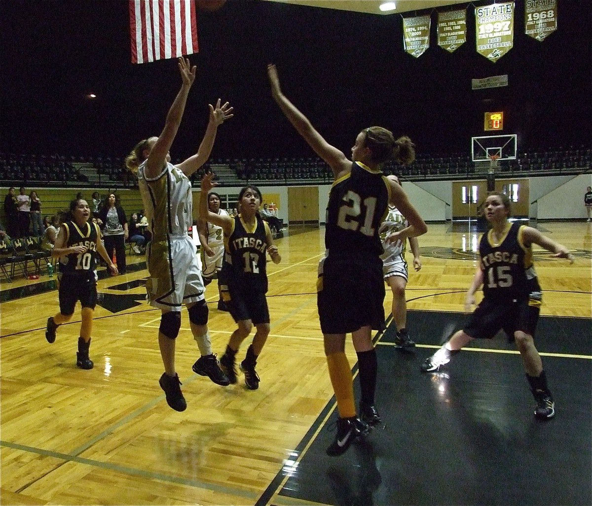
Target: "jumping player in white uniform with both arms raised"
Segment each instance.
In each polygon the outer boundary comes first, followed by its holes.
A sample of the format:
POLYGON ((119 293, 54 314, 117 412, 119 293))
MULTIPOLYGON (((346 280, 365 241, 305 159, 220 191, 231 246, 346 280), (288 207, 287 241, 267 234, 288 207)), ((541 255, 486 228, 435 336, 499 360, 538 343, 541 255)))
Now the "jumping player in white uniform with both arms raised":
POLYGON ((175 368, 175 339, 181 329, 183 304, 187 307, 189 326, 201 353, 193 370, 218 385, 229 384, 212 353, 204 281, 195 244, 187 231, 193 222, 189 177, 210 157, 218 126, 233 114, 228 102, 220 105, 218 99, 215 108, 210 105, 210 121, 197 153, 173 166, 169 149, 181 125, 187 96, 195 80, 195 67, 191 67, 189 59, 179 58, 178 61, 182 84, 166 116, 165 127, 159 137, 138 142, 127 156, 126 166, 138 176, 152 232, 152 241, 146 250, 149 271, 146 290, 150 305, 162 310, 158 343, 165 372, 159 384, 169 406, 184 411, 187 403, 175 368))

